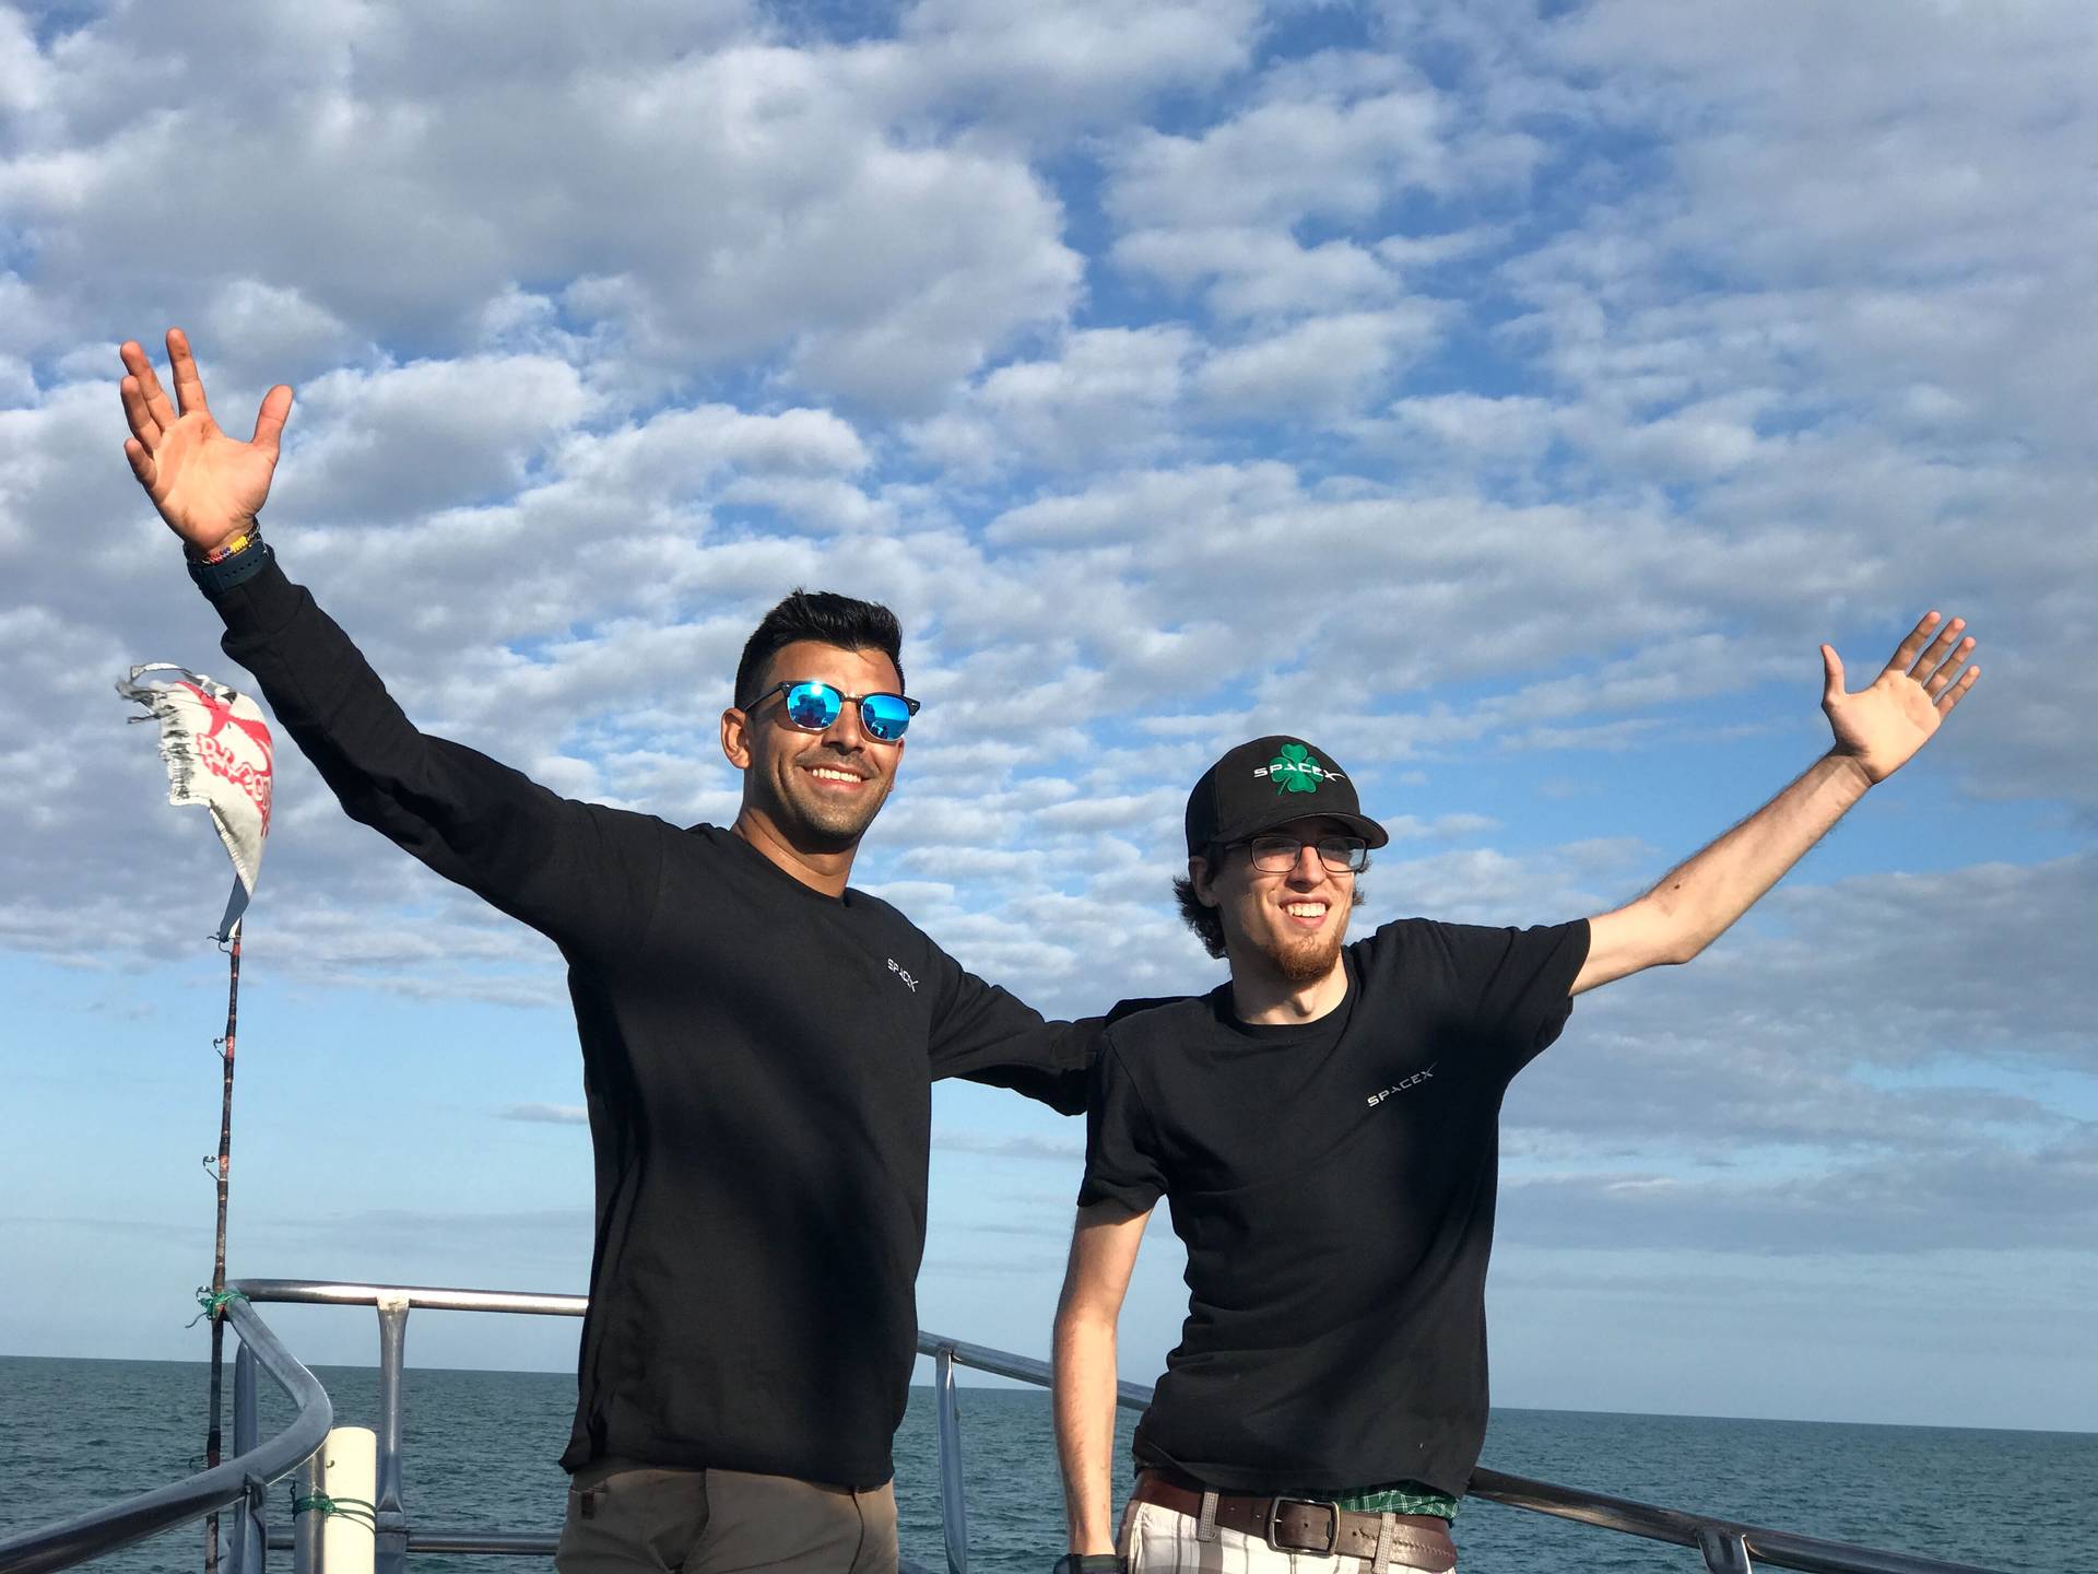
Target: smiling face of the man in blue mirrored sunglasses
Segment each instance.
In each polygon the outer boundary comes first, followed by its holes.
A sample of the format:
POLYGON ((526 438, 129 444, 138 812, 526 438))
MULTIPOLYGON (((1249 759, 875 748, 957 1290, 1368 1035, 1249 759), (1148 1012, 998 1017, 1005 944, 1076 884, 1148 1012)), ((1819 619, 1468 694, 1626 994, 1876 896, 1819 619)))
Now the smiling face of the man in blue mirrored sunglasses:
MULTIPOLYGON (((902 678, 881 651, 845 651, 816 640, 795 640, 766 665, 757 690, 778 682, 827 682, 841 695, 896 695, 902 678)), ((850 854, 873 823, 904 745, 881 743, 860 726, 860 707, 845 703, 822 732, 804 732, 787 720, 783 695, 768 695, 749 711, 722 716, 722 751, 743 770, 743 814, 785 848, 814 856, 850 854)))

